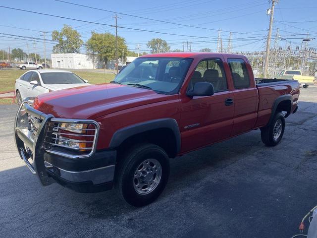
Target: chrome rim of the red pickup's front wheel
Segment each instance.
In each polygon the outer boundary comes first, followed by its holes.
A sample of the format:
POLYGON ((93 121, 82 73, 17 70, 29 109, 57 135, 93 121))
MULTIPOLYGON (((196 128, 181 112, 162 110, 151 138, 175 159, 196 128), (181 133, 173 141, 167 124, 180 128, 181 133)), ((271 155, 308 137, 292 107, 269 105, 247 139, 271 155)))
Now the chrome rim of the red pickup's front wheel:
POLYGON ((162 167, 156 159, 143 161, 136 169, 133 176, 134 190, 141 195, 152 192, 160 182, 162 167))

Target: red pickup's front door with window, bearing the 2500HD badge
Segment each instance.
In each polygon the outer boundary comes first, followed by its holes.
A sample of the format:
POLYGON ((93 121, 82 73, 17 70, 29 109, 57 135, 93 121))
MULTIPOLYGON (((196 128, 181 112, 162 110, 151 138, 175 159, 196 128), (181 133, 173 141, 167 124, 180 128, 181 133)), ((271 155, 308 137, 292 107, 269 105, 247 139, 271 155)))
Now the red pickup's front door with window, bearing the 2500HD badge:
POLYGON ((197 82, 210 82, 211 96, 185 98, 181 101, 181 151, 226 139, 233 127, 233 93, 229 91, 221 59, 207 59, 198 63, 189 82, 188 90, 197 82))

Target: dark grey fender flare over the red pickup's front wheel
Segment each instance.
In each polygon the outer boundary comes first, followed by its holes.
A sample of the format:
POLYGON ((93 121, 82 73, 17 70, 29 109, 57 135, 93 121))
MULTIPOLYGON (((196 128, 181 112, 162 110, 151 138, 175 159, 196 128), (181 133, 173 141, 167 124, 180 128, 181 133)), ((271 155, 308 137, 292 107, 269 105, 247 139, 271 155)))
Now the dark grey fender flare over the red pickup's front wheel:
POLYGON ((114 132, 110 140, 109 147, 118 147, 125 139, 129 138, 130 136, 159 128, 168 128, 172 130, 176 139, 176 152, 178 153, 180 151, 181 146, 181 135, 177 121, 173 118, 148 120, 141 123, 129 125, 127 127, 123 127, 114 132))

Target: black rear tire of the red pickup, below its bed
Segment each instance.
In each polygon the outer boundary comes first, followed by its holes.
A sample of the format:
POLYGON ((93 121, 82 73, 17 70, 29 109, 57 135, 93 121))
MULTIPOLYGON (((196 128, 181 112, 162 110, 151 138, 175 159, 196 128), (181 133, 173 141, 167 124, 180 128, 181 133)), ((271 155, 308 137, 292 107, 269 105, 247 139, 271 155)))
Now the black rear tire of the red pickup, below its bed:
POLYGON ((274 115, 274 118, 269 125, 261 128, 262 142, 267 146, 277 145, 283 137, 284 130, 285 130, 285 118, 282 113, 278 112, 274 115), (281 128, 278 126, 279 122, 281 122, 281 128), (275 129, 275 133, 274 133, 274 129, 275 129))

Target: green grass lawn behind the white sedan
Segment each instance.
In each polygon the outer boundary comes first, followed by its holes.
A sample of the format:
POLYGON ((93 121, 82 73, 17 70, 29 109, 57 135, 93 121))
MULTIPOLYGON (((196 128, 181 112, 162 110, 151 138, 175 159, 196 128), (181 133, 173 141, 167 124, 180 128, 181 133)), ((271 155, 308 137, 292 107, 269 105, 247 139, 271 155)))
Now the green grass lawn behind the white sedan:
MULTIPOLYGON (((91 72, 91 71, 77 71, 69 70, 76 73, 83 79, 87 79, 89 83, 106 83, 114 78, 112 73, 102 73, 102 72, 91 72)), ((17 78, 19 78, 25 70, 21 69, 3 69, 0 70, 0 92, 4 91, 14 91, 14 83, 17 78)), ((0 99, 0 104, 10 104, 11 99, 0 99)))

